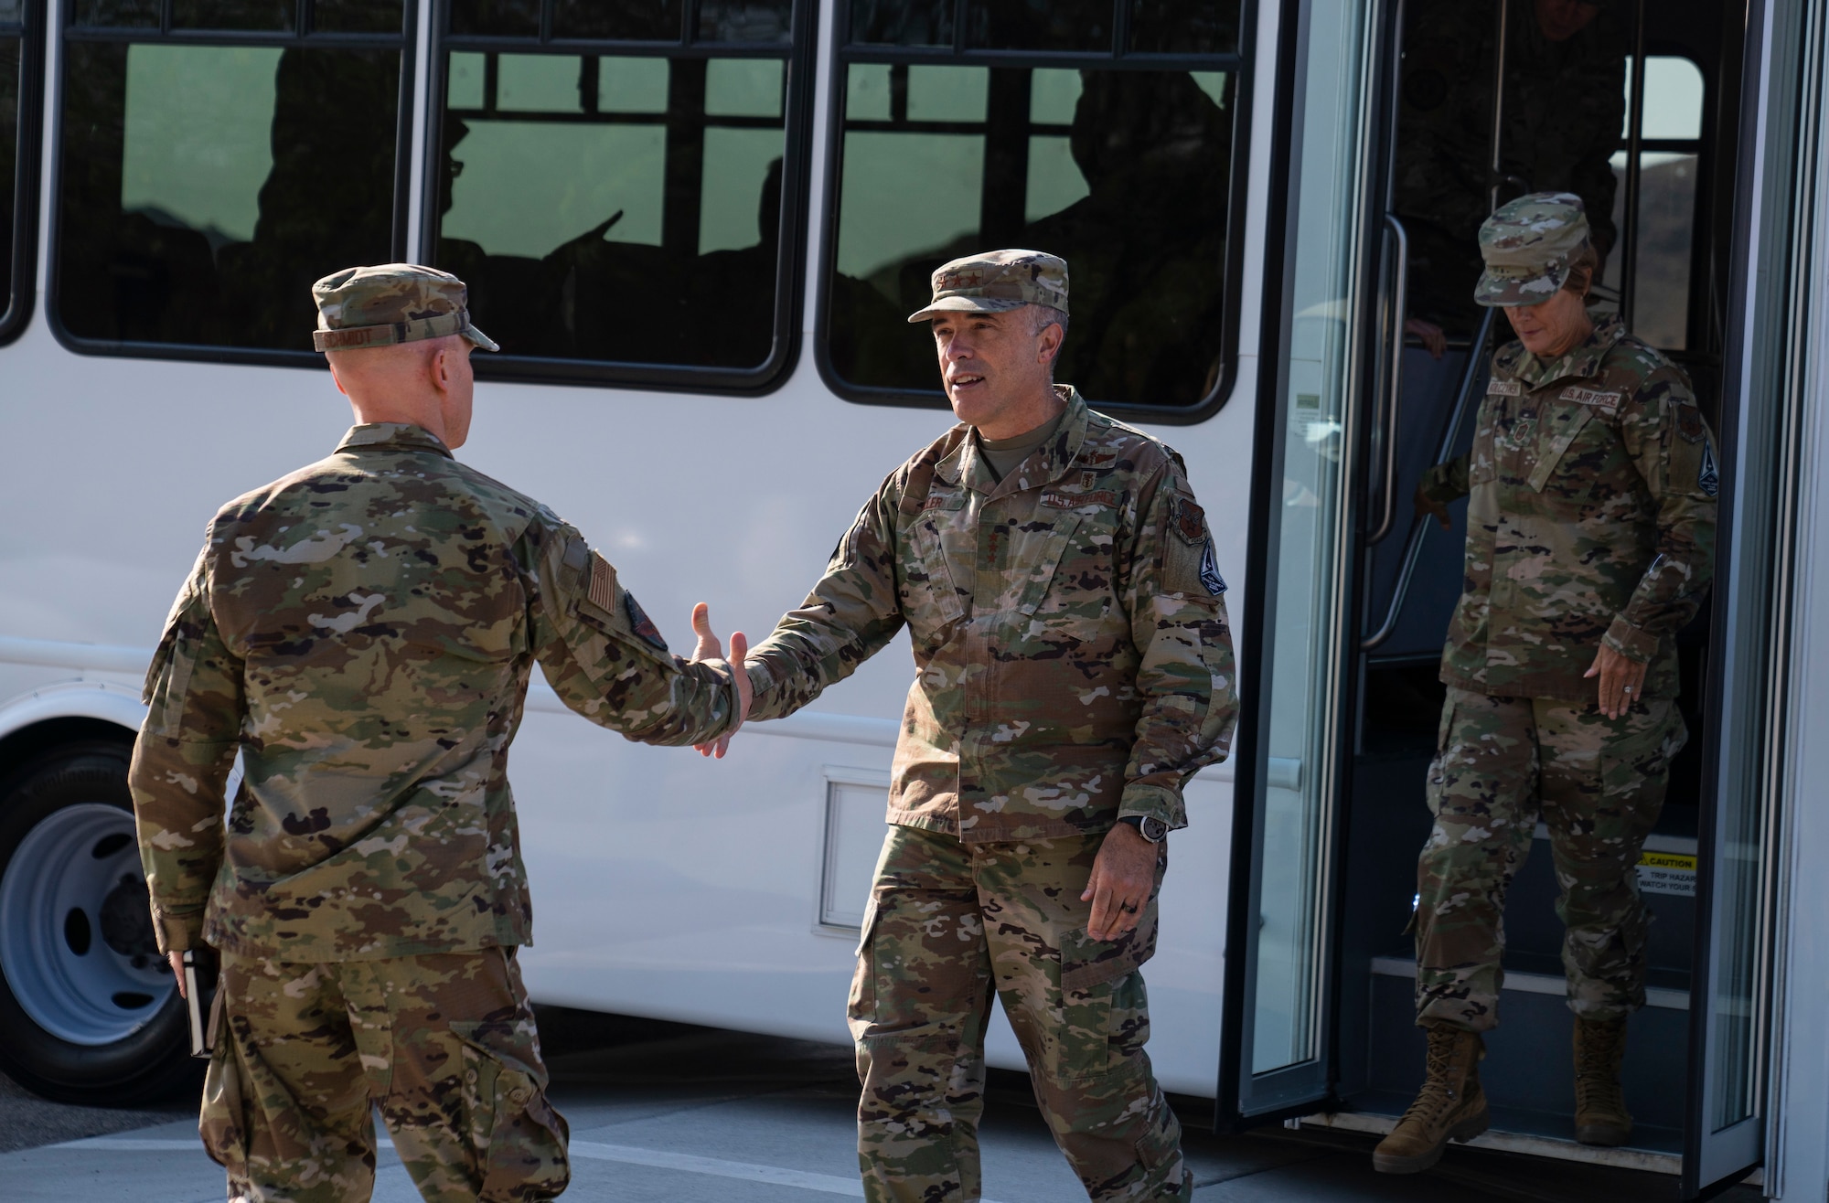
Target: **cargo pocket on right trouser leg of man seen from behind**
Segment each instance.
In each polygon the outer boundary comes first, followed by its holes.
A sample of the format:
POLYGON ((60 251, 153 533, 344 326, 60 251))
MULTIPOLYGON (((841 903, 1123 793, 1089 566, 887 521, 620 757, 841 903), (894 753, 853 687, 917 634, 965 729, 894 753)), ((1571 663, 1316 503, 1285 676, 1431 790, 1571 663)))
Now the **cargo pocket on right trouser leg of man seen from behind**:
POLYGON ((463 1042, 465 1141, 481 1183, 477 1203, 552 1199, 571 1183, 565 1117, 532 1071, 476 1037, 483 1026, 452 1024, 463 1042))

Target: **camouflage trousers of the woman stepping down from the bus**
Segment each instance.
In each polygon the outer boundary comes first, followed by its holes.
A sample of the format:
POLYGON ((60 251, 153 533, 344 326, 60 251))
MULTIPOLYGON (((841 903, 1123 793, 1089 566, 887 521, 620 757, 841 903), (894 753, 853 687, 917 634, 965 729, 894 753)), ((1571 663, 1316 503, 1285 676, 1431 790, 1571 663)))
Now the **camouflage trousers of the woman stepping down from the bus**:
POLYGON ((1569 1009, 1599 1020, 1644 1006, 1652 916, 1637 863, 1686 739, 1670 698, 1619 719, 1595 704, 1449 687, 1428 766, 1436 815, 1416 867, 1416 1017, 1469 1031, 1498 1026, 1505 892, 1549 828, 1569 1009))

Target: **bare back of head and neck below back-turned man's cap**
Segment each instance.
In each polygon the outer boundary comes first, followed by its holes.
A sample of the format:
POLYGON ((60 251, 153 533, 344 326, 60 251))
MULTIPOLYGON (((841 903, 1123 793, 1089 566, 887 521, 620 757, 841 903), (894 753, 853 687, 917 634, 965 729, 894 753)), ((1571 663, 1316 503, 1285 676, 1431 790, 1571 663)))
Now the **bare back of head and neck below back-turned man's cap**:
POLYGON ((472 344, 463 335, 384 347, 326 351, 337 389, 355 421, 419 426, 457 450, 470 437, 476 377, 472 344))

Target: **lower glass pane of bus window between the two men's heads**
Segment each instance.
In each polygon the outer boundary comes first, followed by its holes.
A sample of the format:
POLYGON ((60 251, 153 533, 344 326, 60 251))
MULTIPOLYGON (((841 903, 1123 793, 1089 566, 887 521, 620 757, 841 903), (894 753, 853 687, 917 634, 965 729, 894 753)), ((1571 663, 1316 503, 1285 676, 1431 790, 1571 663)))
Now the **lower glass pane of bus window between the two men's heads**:
POLYGON ((510 355, 759 367, 786 64, 452 53, 437 263, 510 355))

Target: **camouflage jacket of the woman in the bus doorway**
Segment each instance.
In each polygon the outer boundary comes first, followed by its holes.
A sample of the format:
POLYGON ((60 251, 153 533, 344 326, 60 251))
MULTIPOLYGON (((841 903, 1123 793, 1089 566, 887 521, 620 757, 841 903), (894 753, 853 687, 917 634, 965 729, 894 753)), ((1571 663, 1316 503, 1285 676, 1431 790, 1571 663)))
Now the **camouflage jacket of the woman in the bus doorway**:
POLYGON ((1584 702, 1606 642, 1650 664, 1646 697, 1675 697, 1672 636, 1714 576, 1719 490, 1688 378, 1619 318, 1549 364, 1503 346, 1472 450, 1423 477, 1438 501, 1471 494, 1441 680, 1584 702))

